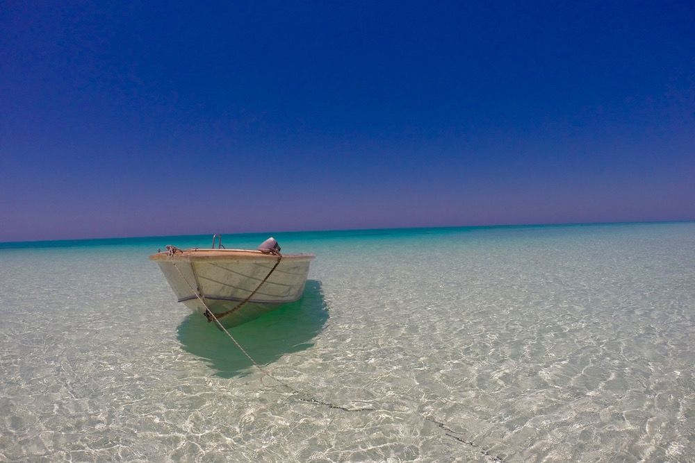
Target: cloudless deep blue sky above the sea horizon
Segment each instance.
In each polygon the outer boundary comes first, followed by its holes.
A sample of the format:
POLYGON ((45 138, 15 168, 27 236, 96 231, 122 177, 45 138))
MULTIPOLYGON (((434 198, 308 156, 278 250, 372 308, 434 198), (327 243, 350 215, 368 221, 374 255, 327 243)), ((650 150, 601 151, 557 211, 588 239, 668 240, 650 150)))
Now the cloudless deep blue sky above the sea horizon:
POLYGON ((695 219, 692 1, 121 3, 0 1, 0 241, 695 219))

